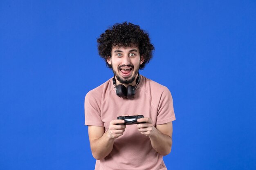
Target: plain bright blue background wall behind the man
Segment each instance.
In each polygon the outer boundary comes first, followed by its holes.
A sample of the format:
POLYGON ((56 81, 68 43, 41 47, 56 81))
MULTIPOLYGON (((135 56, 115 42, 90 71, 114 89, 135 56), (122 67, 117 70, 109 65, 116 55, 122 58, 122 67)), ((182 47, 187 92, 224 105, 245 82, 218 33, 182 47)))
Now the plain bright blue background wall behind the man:
POLYGON ((94 169, 84 97, 112 77, 96 38, 124 21, 173 95, 168 169, 255 170, 255 0, 1 0, 0 169, 94 169))

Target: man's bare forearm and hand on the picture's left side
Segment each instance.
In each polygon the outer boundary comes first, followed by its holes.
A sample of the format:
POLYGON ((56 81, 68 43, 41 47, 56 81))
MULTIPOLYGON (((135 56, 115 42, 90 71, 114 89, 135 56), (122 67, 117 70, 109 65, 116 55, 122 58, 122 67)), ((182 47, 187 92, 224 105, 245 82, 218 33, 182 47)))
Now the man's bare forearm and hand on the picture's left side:
POLYGON ((106 132, 101 126, 88 127, 92 156, 95 159, 100 160, 110 154, 114 140, 124 134, 126 126, 123 123, 124 120, 110 121, 109 129, 106 132))

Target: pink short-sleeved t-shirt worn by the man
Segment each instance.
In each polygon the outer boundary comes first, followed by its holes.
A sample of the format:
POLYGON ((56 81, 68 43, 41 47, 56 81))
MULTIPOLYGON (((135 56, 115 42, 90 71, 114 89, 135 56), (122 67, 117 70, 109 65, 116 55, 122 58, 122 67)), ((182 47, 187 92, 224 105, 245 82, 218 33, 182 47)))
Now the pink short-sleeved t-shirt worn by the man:
MULTIPOLYGON (((110 121, 121 115, 144 115, 154 125, 171 122, 175 120, 171 93, 165 86, 141 76, 134 99, 118 97, 112 78, 85 96, 85 125, 102 126, 106 132, 110 121)), ((163 156, 136 126, 126 126, 110 154, 96 161, 95 170, 166 170, 163 156)))

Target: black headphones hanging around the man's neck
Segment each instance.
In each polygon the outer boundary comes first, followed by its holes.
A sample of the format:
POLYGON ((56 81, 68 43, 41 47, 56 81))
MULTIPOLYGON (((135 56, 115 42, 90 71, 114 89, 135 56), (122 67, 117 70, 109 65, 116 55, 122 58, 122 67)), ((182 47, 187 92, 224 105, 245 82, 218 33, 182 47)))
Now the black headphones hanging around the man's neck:
POLYGON ((127 99, 133 99, 134 98, 135 90, 136 90, 139 82, 140 82, 140 75, 139 74, 138 74, 138 77, 136 79, 136 85, 135 86, 129 85, 129 86, 127 86, 127 88, 123 84, 117 85, 115 75, 114 75, 114 78, 113 78, 113 84, 116 88, 117 95, 119 97, 127 98, 127 99))

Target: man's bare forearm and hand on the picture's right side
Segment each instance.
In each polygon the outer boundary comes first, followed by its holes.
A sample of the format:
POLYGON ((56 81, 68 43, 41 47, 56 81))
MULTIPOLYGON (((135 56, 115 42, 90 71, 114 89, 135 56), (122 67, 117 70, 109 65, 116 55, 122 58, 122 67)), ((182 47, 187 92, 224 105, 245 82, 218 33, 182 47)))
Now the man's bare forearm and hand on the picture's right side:
POLYGON ((141 118, 137 121, 145 122, 138 124, 137 128, 141 134, 150 138, 154 150, 163 156, 168 155, 172 146, 173 123, 168 122, 155 127, 149 117, 141 118))

